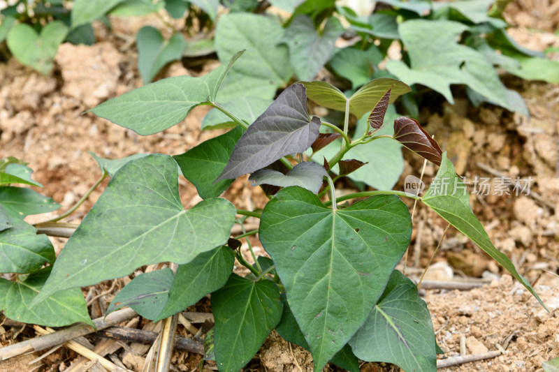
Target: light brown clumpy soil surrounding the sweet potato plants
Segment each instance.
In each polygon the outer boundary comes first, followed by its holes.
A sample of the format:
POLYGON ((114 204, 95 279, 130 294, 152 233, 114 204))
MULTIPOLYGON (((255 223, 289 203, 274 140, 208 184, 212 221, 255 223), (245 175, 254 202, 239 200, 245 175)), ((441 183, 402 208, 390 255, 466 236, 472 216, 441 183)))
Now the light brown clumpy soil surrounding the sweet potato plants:
MULTIPOLYGON (((559 37, 553 34, 559 22, 556 1, 516 0, 507 8, 506 17, 518 26, 511 31, 518 43, 536 50, 559 46, 559 37)), ((34 179, 45 185, 36 190, 63 205, 60 211, 52 214, 31 216, 29 222, 45 221, 65 211, 99 178, 99 167, 87 151, 106 158, 122 158, 139 152, 175 155, 217 135, 217 132, 200 130, 207 107, 197 107, 177 126, 147 137, 91 113, 82 114, 108 98, 142 85, 133 36, 146 23, 161 28, 161 23, 151 18, 114 19, 110 33, 96 24, 98 43, 61 45, 55 71, 50 77, 20 65, 15 59, 0 63, 0 158, 15 156, 29 162, 29 167, 35 170, 34 179)), ((219 66, 215 58, 198 59, 196 64, 190 62, 170 64, 158 78, 204 75, 219 66)), ((559 211, 559 86, 523 82, 510 76, 504 79, 508 87, 521 93, 530 118, 492 105, 472 107, 465 98, 458 98, 454 105, 440 101, 438 106, 425 108, 420 122, 426 131, 435 133, 459 174, 470 181, 475 177, 490 179, 490 195, 472 194, 474 214, 486 226, 495 246, 535 284, 535 290, 551 313, 546 313, 481 249, 450 229, 426 279, 448 281, 461 276, 475 277, 484 278, 486 285, 465 291, 420 289, 432 315, 437 343, 445 352, 440 358, 459 355, 460 336, 466 339, 468 354, 499 348, 506 348, 506 352, 493 359, 442 371, 541 371, 542 362, 559 357, 559 214, 556 213, 559 211), (503 176, 531 177, 530 195, 499 195, 499 181, 503 176)), ((419 176, 421 173, 423 161, 420 158, 405 152, 405 159, 405 172, 396 189, 403 189, 403 178, 407 174, 419 176)), ((427 165, 426 184, 435 173, 436 168, 427 165)), ((101 195, 106 182, 65 221, 79 223, 101 195)), ((246 177, 238 179, 224 196, 240 209, 263 207, 266 198, 260 188, 248 185, 246 177)), ((180 192, 186 208, 201 201, 196 188, 184 179, 180 180, 180 192)), ((410 277, 421 275, 445 228, 446 223, 432 211, 421 206, 416 209, 407 260, 410 277)), ((59 252, 65 239, 52 238, 52 242, 59 252)), ((258 241, 254 244, 257 254, 265 254, 258 241)), ((249 255, 247 260, 252 261, 249 255)), ((151 269, 154 267, 145 268, 151 269)), ((103 292, 108 288, 110 283, 101 283, 87 290, 103 292)), ((114 292, 116 290, 101 298, 101 313, 114 292)), ((209 312, 208 299, 190 310, 209 312)), ((92 315, 99 311, 92 306, 92 315)), ((182 326, 179 332, 188 333, 182 326)), ((0 345, 30 337, 34 337, 30 327, 22 330, 0 325, 0 345)), ((123 356, 125 350, 120 349, 115 354, 126 361, 129 359, 123 356)), ((27 363, 37 356, 0 362, 0 372, 31 371, 33 368, 27 363)), ((42 359, 36 371, 64 371, 78 357, 75 352, 61 348, 42 359)), ((198 355, 177 352, 173 364, 179 371, 193 371, 199 360, 198 355)), ((206 366, 212 369, 211 363, 206 366)), ((133 363, 129 368, 138 370, 133 363)), ((332 365, 327 368, 337 369, 332 365)), ((248 369, 312 371, 312 358, 307 351, 289 345, 273 333, 248 369)), ((382 363, 365 363, 361 370, 399 369, 382 363)))

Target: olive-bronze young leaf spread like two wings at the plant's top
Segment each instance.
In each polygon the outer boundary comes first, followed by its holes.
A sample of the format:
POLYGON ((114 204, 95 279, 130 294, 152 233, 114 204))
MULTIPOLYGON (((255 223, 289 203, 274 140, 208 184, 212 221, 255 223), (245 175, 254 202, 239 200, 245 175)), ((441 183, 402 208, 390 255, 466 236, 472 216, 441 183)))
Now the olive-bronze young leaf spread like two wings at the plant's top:
POLYGON ((375 79, 363 85, 351 98, 344 96, 340 89, 327 82, 302 82, 307 88, 307 97, 318 105, 345 112, 349 100, 349 112, 360 119, 365 112, 370 112, 391 90, 389 103, 393 103, 402 94, 411 91, 406 84, 394 79, 375 79))

